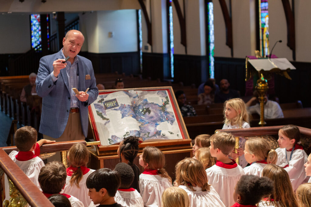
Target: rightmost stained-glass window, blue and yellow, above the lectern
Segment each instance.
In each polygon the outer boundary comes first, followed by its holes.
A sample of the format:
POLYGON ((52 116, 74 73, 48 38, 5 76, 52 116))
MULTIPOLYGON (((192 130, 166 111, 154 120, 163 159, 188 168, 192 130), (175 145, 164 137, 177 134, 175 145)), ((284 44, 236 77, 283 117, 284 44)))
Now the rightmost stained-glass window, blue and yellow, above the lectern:
POLYGON ((268 0, 259 1, 259 21, 260 21, 260 52, 262 57, 266 57, 269 52, 269 14, 268 0))

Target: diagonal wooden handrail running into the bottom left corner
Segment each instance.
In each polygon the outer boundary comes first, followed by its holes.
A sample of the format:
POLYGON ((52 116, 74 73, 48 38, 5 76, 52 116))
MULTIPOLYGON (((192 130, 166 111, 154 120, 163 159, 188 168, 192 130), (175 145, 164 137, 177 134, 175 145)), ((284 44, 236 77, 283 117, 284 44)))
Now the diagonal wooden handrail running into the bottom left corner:
MULTIPOLYGON (((7 153, 0 149, 0 167, 13 182, 17 190, 32 207, 53 207, 54 205, 38 189, 37 186, 26 176, 26 174, 13 162, 7 153)), ((9 198, 6 198, 9 200, 9 198)))

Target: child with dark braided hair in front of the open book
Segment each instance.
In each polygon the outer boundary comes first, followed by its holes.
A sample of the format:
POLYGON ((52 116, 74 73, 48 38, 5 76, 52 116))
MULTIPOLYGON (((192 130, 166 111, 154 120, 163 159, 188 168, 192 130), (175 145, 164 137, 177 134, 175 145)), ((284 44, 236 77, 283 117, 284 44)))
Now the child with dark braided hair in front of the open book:
POLYGON ((129 164, 134 171, 134 181, 130 188, 136 189, 139 193, 139 174, 140 170, 136 164, 133 163, 139 150, 139 139, 136 136, 128 136, 120 142, 117 154, 120 157, 120 162, 129 164))

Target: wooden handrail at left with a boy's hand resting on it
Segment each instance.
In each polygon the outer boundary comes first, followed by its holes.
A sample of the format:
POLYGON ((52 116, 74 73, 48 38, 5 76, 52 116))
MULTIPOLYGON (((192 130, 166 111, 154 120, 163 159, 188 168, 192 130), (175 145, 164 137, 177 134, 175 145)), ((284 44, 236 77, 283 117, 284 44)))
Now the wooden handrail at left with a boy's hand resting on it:
MULTIPOLYGON (((59 151, 67 151, 74 145, 75 143, 82 143, 86 145, 85 140, 76 140, 76 141, 65 141, 65 142, 55 142, 52 144, 45 144, 40 147, 40 153, 50 153, 50 152, 59 152, 59 151)), ((16 146, 10 147, 1 147, 7 154, 10 154, 13 150, 17 150, 16 146)))

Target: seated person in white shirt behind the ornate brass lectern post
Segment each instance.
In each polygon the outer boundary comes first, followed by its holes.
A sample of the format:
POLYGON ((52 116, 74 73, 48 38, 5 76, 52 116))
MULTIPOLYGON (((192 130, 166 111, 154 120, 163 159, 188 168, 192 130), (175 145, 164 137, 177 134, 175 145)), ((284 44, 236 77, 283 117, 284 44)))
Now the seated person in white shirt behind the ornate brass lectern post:
MULTIPOLYGON (((260 115, 260 99, 258 96, 258 92, 254 91, 253 97, 245 104, 248 107, 248 112, 251 114, 258 113, 260 115), (252 106, 253 101, 256 101, 256 104, 252 106)), ((275 101, 268 100, 267 95, 265 95, 264 104, 264 119, 284 118, 280 105, 275 101)))

